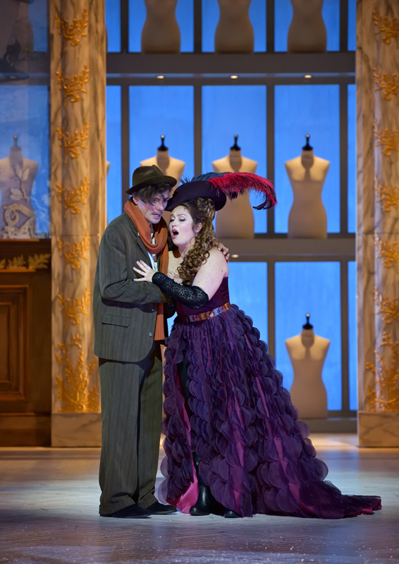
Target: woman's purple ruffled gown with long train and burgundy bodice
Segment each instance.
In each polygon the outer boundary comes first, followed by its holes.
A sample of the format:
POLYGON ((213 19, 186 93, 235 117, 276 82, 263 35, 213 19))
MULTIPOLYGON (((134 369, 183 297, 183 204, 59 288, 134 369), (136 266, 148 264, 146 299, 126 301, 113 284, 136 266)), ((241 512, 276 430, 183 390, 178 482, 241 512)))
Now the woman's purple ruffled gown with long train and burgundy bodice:
POLYGON ((381 509, 377 496, 345 496, 324 480, 324 462, 307 438, 309 428, 283 388, 283 376, 259 340, 259 331, 236 305, 204 321, 184 316, 228 302, 228 282, 202 309, 177 304, 167 340, 164 458, 161 495, 184 513, 197 501, 192 451, 200 475, 225 508, 254 513, 339 519, 381 509), (189 410, 177 364, 188 361, 189 410), (190 419, 188 412, 191 412, 190 419))

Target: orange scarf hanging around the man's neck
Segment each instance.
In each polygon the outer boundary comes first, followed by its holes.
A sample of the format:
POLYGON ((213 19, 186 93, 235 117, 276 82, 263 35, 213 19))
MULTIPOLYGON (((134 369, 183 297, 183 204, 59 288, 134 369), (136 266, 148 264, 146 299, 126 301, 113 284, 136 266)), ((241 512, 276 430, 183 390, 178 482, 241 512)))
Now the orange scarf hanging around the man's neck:
MULTIPOLYGON (((163 217, 161 217, 161 221, 154 226, 155 245, 153 245, 149 223, 147 219, 145 219, 145 216, 143 216, 140 212, 140 209, 137 208, 132 200, 128 200, 123 209, 135 224, 138 234, 140 235, 140 239, 145 244, 147 251, 151 255, 159 255, 159 272, 166 274, 168 272, 169 259, 168 245, 166 245, 168 240, 168 226, 166 226, 166 221, 163 217)), ((163 341, 165 338, 164 304, 159 303, 156 306, 154 341, 163 341)))

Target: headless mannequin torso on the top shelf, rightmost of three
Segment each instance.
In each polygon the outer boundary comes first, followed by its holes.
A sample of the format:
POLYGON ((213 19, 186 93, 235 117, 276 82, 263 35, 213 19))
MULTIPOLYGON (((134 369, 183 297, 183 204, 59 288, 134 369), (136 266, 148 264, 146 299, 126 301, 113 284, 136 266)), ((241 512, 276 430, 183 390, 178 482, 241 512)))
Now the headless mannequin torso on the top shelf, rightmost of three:
POLYGON ((288 30, 290 53, 324 53, 327 32, 321 8, 323 0, 291 0, 293 20, 288 30))

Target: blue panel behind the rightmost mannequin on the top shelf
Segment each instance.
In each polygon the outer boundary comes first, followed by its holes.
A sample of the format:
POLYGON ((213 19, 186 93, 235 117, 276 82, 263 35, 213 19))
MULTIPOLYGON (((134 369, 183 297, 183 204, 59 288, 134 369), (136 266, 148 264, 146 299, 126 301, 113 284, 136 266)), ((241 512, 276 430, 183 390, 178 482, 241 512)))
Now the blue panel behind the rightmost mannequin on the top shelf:
MULTIPOLYGON (((340 0, 324 0, 322 14, 327 30, 327 51, 339 51, 340 0)), ((274 2, 274 49, 287 51, 288 30, 293 19, 290 0, 274 2)))

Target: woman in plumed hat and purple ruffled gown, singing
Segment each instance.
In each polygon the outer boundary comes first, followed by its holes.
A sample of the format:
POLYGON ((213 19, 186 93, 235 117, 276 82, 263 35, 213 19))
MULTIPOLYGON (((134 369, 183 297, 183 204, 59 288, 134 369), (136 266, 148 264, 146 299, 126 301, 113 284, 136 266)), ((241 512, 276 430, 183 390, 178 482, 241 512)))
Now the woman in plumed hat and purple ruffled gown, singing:
POLYGON ((283 388, 283 376, 252 319, 228 300, 228 264, 212 220, 232 195, 263 192, 269 181, 246 173, 202 175, 180 185, 166 209, 177 252, 169 276, 135 269, 176 300, 166 344, 162 493, 191 515, 254 513, 338 519, 381 508, 376 496, 345 496, 330 482, 307 438, 309 428, 283 388), (171 279, 174 278, 174 279, 171 279), (182 282, 180 284, 179 282, 182 282))

